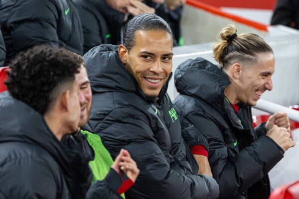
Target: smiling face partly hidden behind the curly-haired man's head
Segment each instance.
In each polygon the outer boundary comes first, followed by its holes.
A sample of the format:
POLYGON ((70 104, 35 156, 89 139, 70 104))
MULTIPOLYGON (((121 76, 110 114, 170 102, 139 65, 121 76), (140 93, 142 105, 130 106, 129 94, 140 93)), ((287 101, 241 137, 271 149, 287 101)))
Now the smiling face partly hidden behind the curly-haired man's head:
POLYGON ((78 86, 78 98, 81 110, 79 127, 82 127, 87 123, 89 118, 92 101, 92 92, 86 68, 82 66, 79 69, 79 71, 80 73, 76 74, 76 81, 78 86))

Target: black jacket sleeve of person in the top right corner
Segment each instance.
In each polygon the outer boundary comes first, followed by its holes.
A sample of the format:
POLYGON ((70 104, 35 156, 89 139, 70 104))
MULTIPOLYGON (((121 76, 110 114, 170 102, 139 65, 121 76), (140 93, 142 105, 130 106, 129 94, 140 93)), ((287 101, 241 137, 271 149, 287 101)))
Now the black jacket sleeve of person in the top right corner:
POLYGON ((271 25, 282 24, 290 26, 291 22, 295 21, 295 13, 297 11, 292 0, 278 0, 271 19, 271 25))

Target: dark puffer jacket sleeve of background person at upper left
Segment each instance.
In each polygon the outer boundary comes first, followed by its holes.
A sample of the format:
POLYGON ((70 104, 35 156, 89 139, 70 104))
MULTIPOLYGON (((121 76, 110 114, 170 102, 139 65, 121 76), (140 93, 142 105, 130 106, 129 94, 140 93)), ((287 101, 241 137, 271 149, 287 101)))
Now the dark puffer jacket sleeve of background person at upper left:
POLYGON ((7 18, 16 52, 44 43, 58 46, 57 21, 58 13, 52 1, 17 0, 7 18))

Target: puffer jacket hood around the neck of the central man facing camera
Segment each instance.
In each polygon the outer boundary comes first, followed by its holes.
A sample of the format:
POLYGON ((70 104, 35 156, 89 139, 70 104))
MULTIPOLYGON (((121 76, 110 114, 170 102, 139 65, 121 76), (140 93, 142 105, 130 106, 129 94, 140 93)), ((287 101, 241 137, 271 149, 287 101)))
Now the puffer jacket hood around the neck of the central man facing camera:
POLYGON ((94 47, 83 58, 88 66, 88 78, 93 93, 126 91, 135 93, 149 102, 159 102, 165 96, 172 76, 170 74, 157 98, 149 98, 141 90, 135 77, 124 67, 118 55, 118 45, 103 44, 94 47))

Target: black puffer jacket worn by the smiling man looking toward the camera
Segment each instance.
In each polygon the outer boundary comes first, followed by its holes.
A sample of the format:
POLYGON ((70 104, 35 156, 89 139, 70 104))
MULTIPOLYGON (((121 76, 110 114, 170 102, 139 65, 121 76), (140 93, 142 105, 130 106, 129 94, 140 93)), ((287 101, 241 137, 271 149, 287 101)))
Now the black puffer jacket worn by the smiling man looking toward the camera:
POLYGON ((118 47, 101 45, 84 55, 93 92, 88 122, 115 158, 122 148, 137 162, 140 175, 126 193, 132 199, 215 199, 216 182, 196 175, 180 123, 165 95, 149 99, 118 56, 118 47))

